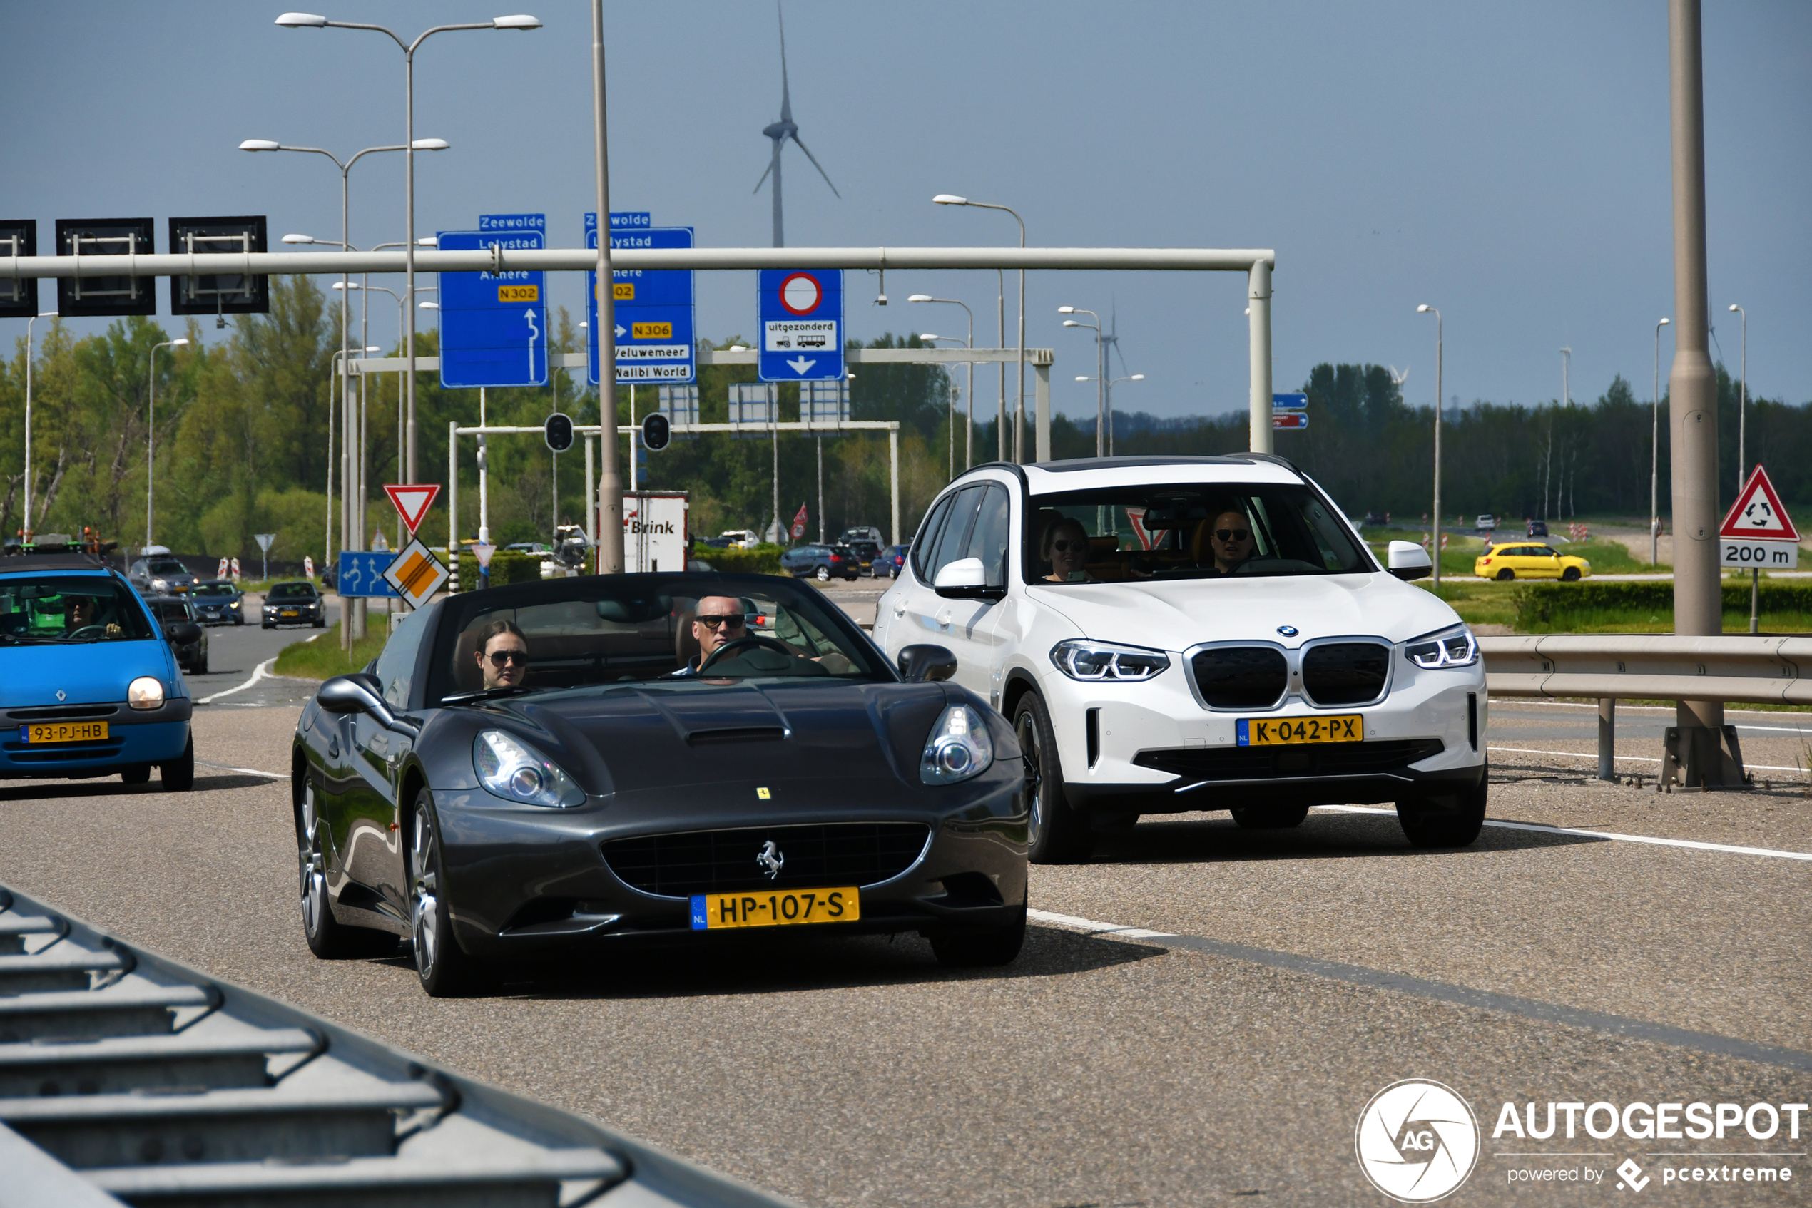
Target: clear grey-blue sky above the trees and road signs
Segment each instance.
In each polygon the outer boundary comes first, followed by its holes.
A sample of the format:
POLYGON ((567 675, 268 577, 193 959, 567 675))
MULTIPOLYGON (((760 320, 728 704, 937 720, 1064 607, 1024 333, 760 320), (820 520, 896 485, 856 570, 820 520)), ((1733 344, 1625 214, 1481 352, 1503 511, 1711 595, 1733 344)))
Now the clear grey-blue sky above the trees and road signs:
MULTIPOLYGON (((587 4, 308 2, 408 34, 511 4, 540 16, 540 31, 439 34, 419 53, 417 136, 453 149, 419 159, 417 223, 544 210, 553 243, 578 246, 593 196, 587 4)), ((43 241, 58 217, 152 216, 159 250, 170 214, 268 214, 272 237, 335 237, 326 159, 236 147, 400 141, 402 56, 381 34, 279 29, 281 9, 9 4, 0 214, 36 217, 43 241)), ((1431 302, 1450 324, 1448 395, 1553 398, 1569 344, 1575 398, 1613 373, 1645 397, 1654 321, 1672 313, 1665 9, 788 0, 794 116, 843 199, 788 149, 786 237, 1015 239, 1004 214, 930 203, 959 192, 1017 206, 1033 244, 1270 246, 1279 389, 1319 360, 1373 360, 1408 366, 1408 398, 1430 402, 1433 321, 1413 312, 1431 302)), ((774 5, 609 0, 605 24, 612 208, 696 226, 699 244, 766 244, 766 190, 750 190, 779 110, 774 5)), ((1734 373, 1723 308, 1747 306, 1752 393, 1790 402, 1812 400, 1808 63, 1812 5, 1705 5, 1716 333, 1734 373)), ((400 156, 353 170, 352 214, 355 244, 400 239, 400 156)), ((701 333, 754 333, 752 277, 701 273, 701 333)), ((1093 342, 1058 326, 1065 302, 1118 304, 1127 364, 1147 375, 1120 407, 1243 407, 1241 286, 1033 275, 1027 340, 1058 351, 1058 409, 1094 409, 1093 386, 1073 380, 1093 371, 1093 342)), ((872 277, 852 273, 848 290, 857 337, 962 330, 957 308, 908 306, 913 292, 968 301, 978 342, 995 333, 993 273, 890 273, 886 310, 866 301, 872 277)), ((395 310, 377 297, 388 344, 395 310)), ((576 310, 582 279, 551 297, 576 310)), ((24 321, 7 330, 24 335, 24 321)), ((1671 353, 1663 337, 1663 379, 1671 353)), ((977 377, 986 409, 993 375, 977 377)))

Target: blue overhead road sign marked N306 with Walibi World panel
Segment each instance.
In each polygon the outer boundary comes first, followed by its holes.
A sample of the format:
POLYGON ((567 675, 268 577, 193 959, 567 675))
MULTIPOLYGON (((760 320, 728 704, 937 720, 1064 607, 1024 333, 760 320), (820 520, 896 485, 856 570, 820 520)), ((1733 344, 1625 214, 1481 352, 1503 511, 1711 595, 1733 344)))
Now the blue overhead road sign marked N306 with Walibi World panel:
MULTIPOLYGON (((690 226, 651 226, 645 212, 611 214, 611 248, 690 248, 690 226), (640 219, 640 221, 636 221, 640 219)), ((585 216, 585 246, 598 246, 598 216, 585 216)), ((616 380, 698 380, 692 272, 685 268, 614 268, 616 380)), ((585 380, 598 384, 598 273, 587 284, 585 380)))

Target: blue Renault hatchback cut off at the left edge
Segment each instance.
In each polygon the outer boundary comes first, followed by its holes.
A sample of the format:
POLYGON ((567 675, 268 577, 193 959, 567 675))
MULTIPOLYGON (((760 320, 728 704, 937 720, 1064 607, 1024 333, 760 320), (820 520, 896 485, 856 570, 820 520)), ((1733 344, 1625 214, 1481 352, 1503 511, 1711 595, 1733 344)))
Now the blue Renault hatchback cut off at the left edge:
POLYGON ((194 703, 132 585, 69 552, 0 558, 0 777, 196 781, 194 703))

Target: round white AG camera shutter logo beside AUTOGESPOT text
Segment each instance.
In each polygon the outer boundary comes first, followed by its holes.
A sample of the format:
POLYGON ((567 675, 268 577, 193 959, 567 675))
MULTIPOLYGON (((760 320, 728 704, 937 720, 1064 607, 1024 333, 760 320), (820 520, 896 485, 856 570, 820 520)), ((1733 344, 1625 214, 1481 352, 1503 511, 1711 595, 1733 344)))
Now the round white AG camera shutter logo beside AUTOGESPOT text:
POLYGON ((1459 1190, 1479 1165, 1479 1117, 1451 1087, 1406 1078, 1364 1105, 1354 1150, 1372 1186, 1426 1204, 1459 1190))

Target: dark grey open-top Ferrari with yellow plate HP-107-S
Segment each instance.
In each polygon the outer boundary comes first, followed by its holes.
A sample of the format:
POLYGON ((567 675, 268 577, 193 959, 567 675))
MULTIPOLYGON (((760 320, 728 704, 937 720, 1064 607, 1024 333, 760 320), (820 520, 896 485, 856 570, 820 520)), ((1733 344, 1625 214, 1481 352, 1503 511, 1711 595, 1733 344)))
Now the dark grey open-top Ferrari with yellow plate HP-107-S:
POLYGON ((429 994, 493 962, 790 925, 919 931, 944 964, 1006 964, 1026 935, 1024 768, 953 670, 933 645, 892 666, 815 587, 768 576, 435 601, 297 723, 308 945, 408 936, 429 994))

